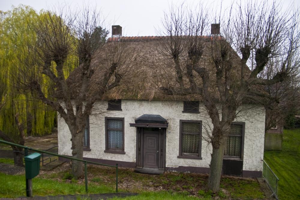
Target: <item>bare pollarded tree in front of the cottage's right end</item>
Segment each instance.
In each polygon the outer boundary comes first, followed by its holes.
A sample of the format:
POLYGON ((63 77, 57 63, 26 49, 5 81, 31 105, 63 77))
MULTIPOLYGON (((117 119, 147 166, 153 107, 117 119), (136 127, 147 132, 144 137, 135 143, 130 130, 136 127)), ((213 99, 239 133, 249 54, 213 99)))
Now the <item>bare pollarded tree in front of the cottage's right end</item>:
MULTIPOLYGON (((222 11, 222 10, 221 10, 222 11)), ((199 5, 171 7, 162 20, 161 54, 173 63, 173 79, 161 90, 170 95, 199 95, 213 124, 209 189, 220 188, 223 155, 230 124, 242 103, 265 104, 276 97, 265 91, 299 70, 298 11, 283 13, 276 3, 232 5, 214 20, 210 36, 205 30, 216 13, 199 5), (252 54, 251 54, 252 52, 252 54), (251 57, 253 55, 253 57, 251 57), (277 65, 268 65, 277 58, 277 65), (280 58, 280 59, 279 59, 280 58), (252 70, 247 64, 252 64, 252 70), (262 76, 267 66, 273 76, 262 76)), ((278 101, 278 100, 277 100, 278 101)))

